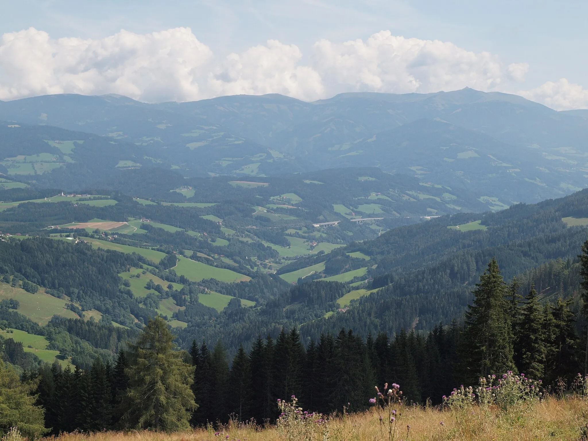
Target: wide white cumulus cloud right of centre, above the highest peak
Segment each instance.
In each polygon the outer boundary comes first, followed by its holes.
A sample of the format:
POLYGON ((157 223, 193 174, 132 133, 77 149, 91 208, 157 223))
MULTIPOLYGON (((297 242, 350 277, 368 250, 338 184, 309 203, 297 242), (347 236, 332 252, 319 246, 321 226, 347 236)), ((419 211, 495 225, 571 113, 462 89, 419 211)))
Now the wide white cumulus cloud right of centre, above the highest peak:
POLYGON ((427 93, 466 86, 488 91, 499 87, 504 75, 496 55, 475 54, 449 42, 393 36, 390 31, 365 42, 321 40, 313 49, 313 66, 329 93, 427 93))

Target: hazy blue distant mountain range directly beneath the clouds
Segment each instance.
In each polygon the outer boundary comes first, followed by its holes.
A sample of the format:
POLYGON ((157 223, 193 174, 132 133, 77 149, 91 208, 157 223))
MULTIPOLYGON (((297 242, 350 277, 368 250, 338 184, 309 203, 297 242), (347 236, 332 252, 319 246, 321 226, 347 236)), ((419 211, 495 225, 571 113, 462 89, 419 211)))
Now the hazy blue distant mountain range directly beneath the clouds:
POLYGON ((49 95, 0 102, 0 119, 0 171, 43 186, 92 185, 136 168, 249 179, 377 166, 499 209, 588 183, 588 111, 469 88, 312 103, 282 95, 159 104, 49 95), (84 142, 60 148, 67 141, 84 142))

